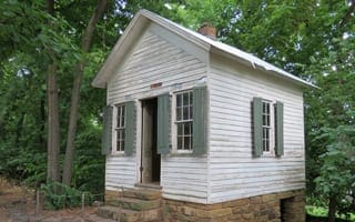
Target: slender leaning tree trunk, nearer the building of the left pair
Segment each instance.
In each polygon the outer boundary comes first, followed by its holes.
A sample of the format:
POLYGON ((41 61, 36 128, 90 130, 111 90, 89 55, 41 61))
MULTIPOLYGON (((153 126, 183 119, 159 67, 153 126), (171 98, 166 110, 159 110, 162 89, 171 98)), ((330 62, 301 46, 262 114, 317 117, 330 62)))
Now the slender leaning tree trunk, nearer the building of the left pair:
MULTIPOLYGON (((108 3, 108 0, 98 0, 95 10, 91 16, 91 19, 87 26, 87 29, 81 42, 81 49, 83 53, 88 52, 90 48, 93 31, 97 27, 99 19, 103 14, 106 3, 108 3)), ((82 59, 77 64, 77 74, 74 78, 73 89, 71 94, 70 120, 69 120, 65 158, 64 158, 64 165, 63 165, 63 180, 62 180, 62 182, 67 185, 70 185, 70 182, 71 182, 71 171, 72 171, 72 164, 74 159, 74 138, 75 138, 77 125, 78 125, 80 88, 81 88, 84 67, 85 67, 85 59, 82 59)))

